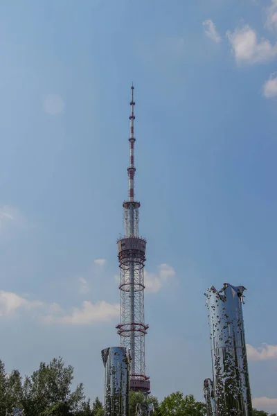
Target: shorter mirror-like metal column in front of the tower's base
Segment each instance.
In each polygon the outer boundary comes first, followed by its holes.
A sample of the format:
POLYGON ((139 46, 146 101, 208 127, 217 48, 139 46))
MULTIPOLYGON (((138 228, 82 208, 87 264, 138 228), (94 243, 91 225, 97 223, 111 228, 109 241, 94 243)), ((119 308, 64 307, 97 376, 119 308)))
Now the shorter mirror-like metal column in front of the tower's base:
POLYGON ((129 416, 129 352, 124 347, 102 349, 105 366, 105 416, 129 416))

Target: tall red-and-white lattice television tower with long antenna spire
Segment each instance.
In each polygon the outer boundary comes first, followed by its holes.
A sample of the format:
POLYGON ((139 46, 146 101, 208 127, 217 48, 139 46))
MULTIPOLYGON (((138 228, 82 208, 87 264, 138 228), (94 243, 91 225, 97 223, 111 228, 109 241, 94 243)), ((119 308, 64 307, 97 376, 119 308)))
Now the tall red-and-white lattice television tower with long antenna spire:
POLYGON ((123 202, 125 236, 117 241, 120 268, 120 347, 129 349, 131 358, 130 389, 150 393, 150 379, 145 376, 144 276, 146 240, 139 237, 140 202, 134 200, 134 85, 129 136, 129 198, 123 202))

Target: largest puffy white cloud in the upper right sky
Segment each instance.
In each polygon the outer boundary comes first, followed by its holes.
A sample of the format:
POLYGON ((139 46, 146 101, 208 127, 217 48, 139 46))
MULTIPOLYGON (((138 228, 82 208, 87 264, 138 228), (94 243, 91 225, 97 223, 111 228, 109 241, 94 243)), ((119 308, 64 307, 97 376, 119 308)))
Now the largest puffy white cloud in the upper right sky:
POLYGON ((226 36, 238 63, 267 62, 277 55, 277 44, 272 46, 266 39, 261 39, 258 42, 256 32, 248 25, 241 29, 235 29, 234 33, 227 32, 226 36))

